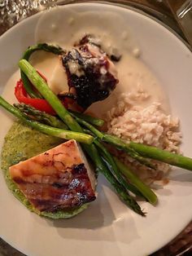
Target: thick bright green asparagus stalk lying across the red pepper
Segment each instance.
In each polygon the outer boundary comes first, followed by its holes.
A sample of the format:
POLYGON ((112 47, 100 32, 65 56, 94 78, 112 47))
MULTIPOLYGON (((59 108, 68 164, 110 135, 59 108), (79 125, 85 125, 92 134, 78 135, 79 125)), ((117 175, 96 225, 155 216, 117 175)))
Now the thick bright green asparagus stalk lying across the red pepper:
POLYGON ((28 63, 27 60, 20 60, 20 69, 27 75, 33 86, 41 93, 41 95, 49 102, 59 117, 65 122, 70 130, 82 132, 81 126, 72 118, 68 110, 64 108, 58 97, 50 90, 45 80, 37 73, 35 68, 28 63))

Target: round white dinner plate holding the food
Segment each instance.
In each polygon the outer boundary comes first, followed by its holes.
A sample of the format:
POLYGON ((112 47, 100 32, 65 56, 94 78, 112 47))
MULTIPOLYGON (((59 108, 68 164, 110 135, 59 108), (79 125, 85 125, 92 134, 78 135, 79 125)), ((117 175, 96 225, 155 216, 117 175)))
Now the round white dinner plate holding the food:
MULTIPOLYGON (((119 33, 128 27, 131 30, 142 52, 141 60, 164 86, 172 115, 181 119, 181 149, 185 155, 192 156, 192 54, 185 44, 163 25, 137 11, 101 3, 59 8, 63 17, 68 10, 82 13, 94 10, 98 12, 98 20, 107 12, 123 18, 123 26, 121 24, 119 28, 118 20, 114 19, 111 28, 117 28, 119 33)), ((10 102, 15 100, 15 85, 7 87, 5 84, 17 69, 23 51, 35 42, 37 23, 42 15, 39 13, 20 22, 0 38, 0 88, 10 102)), ((1 110, 0 120, 2 148, 13 118, 1 110)), ((192 174, 174 168, 169 179, 168 185, 156 191, 159 196, 157 206, 141 202, 142 209, 147 212, 146 218, 134 214, 120 202, 110 185, 99 176, 98 199, 87 210, 68 220, 50 220, 25 209, 9 192, 1 173, 0 236, 24 254, 34 256, 151 254, 177 236, 190 223, 192 216, 192 174)))

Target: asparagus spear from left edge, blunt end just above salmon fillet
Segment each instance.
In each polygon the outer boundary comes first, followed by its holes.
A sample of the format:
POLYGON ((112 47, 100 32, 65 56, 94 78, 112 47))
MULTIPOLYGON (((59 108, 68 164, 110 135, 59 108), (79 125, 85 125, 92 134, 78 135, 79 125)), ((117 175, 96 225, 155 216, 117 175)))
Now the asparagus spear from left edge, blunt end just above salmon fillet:
POLYGON ((20 118, 21 121, 24 121, 25 124, 28 126, 31 126, 32 128, 39 130, 46 135, 51 135, 55 137, 59 137, 62 139, 76 139, 77 141, 81 143, 92 143, 93 142, 93 137, 91 135, 85 135, 84 133, 80 132, 74 132, 71 130, 62 130, 58 128, 53 128, 51 126, 46 126, 44 124, 41 124, 38 121, 32 121, 28 120, 22 113, 20 113, 20 110, 17 108, 13 107, 11 104, 8 104, 5 99, 2 99, 0 96, 0 105, 7 109, 10 113, 12 113, 15 117, 20 118))

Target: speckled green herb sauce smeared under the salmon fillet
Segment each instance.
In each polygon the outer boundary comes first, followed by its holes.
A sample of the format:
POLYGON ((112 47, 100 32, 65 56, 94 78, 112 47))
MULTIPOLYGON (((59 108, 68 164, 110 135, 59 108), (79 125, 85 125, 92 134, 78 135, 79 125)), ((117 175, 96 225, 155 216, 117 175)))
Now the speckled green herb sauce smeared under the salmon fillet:
POLYGON ((50 148, 55 148, 63 139, 55 138, 49 135, 42 134, 37 130, 33 130, 28 126, 24 126, 22 122, 15 121, 8 131, 2 147, 2 171, 7 182, 8 188, 27 208, 48 218, 71 218, 79 214, 82 210, 87 208, 87 204, 75 210, 57 211, 55 213, 40 212, 30 204, 28 199, 24 196, 16 183, 11 179, 9 174, 9 167, 14 166, 20 161, 24 161, 30 157, 34 157, 41 152, 45 152, 50 148))

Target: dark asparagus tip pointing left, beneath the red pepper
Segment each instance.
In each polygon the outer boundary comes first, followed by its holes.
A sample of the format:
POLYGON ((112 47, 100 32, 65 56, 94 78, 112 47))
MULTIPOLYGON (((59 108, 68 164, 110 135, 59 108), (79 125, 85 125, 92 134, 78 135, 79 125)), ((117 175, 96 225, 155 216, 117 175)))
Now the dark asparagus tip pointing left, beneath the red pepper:
POLYGON ((55 128, 61 128, 64 130, 68 130, 68 126, 66 126, 63 121, 59 120, 59 118, 51 116, 45 112, 37 110, 32 106, 27 104, 13 104, 15 108, 18 108, 21 113, 29 117, 29 119, 40 121, 48 126, 52 126, 55 128))

